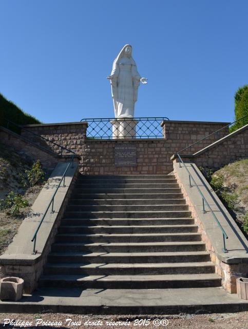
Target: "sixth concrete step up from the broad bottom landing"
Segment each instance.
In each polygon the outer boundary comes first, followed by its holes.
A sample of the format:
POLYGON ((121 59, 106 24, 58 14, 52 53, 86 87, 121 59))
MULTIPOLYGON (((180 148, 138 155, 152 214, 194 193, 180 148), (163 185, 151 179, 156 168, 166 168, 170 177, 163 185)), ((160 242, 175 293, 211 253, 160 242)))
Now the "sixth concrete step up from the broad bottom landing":
POLYGON ((131 233, 193 233, 197 232, 197 225, 154 225, 154 226, 83 226, 83 225, 61 225, 59 233, 100 233, 100 234, 131 234, 131 233))

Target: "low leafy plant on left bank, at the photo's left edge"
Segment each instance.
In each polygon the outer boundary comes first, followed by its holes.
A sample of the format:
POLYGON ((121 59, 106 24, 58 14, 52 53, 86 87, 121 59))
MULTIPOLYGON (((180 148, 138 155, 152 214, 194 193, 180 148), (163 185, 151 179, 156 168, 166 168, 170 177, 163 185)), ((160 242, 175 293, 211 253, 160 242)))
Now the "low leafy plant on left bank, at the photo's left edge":
POLYGON ((20 209, 27 206, 27 200, 21 194, 16 194, 13 191, 9 192, 5 199, 0 199, 0 210, 14 217, 20 215, 20 209))

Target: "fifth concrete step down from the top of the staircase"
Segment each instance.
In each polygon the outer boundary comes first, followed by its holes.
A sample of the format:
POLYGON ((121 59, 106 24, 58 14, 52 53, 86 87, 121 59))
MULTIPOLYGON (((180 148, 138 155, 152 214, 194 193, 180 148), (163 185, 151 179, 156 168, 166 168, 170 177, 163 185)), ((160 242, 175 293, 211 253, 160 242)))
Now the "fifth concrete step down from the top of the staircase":
POLYGON ((177 193, 75 193, 72 191, 71 199, 102 199, 102 200, 116 200, 116 199, 182 199, 183 194, 177 193))

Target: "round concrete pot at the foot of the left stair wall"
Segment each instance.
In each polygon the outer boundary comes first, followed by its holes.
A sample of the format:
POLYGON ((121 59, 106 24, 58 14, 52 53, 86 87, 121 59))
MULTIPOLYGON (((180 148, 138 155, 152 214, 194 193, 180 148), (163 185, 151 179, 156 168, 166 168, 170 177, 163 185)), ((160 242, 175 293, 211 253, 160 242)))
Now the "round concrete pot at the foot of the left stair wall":
POLYGON ((0 280, 0 299, 17 301, 23 297, 24 280, 16 277, 7 277, 0 280))

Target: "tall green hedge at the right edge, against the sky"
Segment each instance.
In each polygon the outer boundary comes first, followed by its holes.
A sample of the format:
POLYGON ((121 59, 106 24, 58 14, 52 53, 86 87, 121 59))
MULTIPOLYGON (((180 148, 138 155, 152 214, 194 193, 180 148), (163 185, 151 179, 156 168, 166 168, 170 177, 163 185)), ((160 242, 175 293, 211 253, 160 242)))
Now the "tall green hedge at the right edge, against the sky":
MULTIPOLYGON (((235 100, 235 121, 248 115, 248 85, 240 87, 234 97, 235 100)), ((230 132, 234 132, 248 123, 248 116, 230 127, 230 132)))

